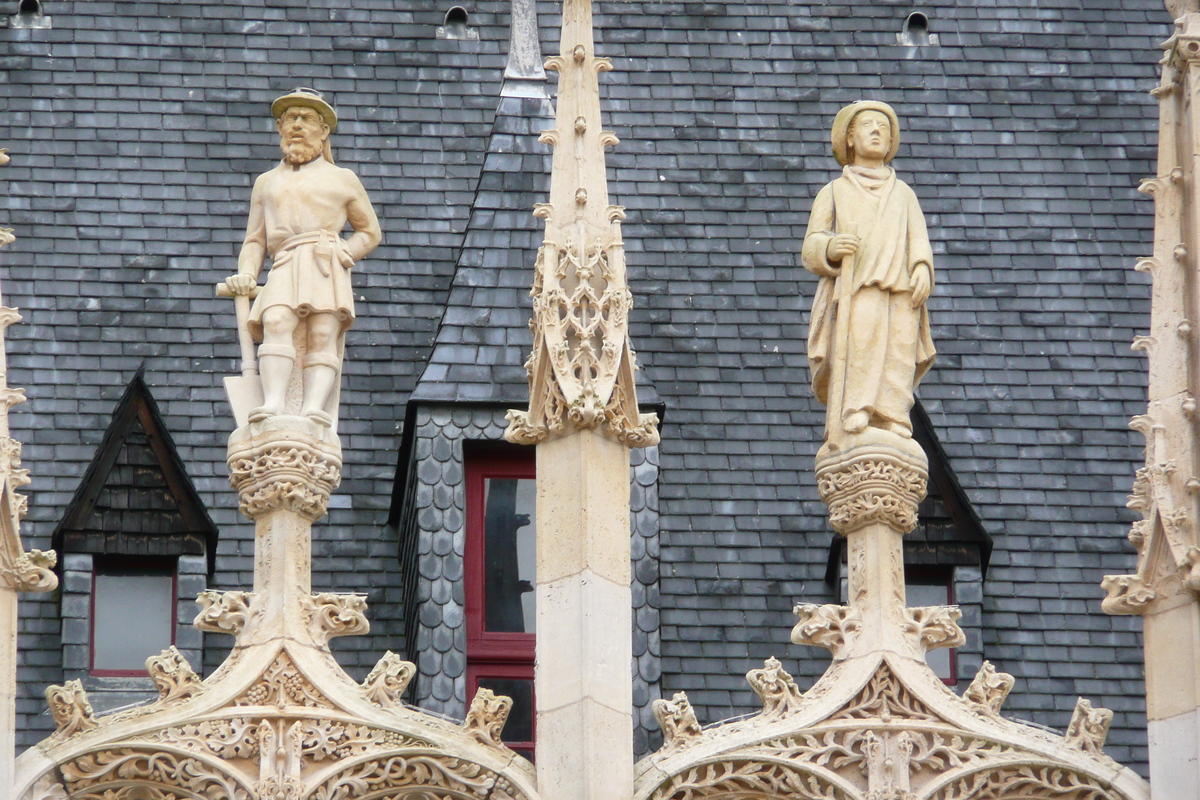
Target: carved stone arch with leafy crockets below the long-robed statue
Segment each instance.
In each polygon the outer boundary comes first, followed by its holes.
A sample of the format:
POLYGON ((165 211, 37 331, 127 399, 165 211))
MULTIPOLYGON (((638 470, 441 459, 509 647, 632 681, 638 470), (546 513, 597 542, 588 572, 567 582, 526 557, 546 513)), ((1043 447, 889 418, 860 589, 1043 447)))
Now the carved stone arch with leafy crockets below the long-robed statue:
POLYGON ((746 675, 763 710, 701 729, 684 693, 656 700, 664 745, 635 800, 1145 800, 1104 756, 1111 712, 1080 699, 1066 736, 1009 722, 1013 679, 984 663, 962 697, 894 654, 835 663, 800 692, 780 663, 746 675))

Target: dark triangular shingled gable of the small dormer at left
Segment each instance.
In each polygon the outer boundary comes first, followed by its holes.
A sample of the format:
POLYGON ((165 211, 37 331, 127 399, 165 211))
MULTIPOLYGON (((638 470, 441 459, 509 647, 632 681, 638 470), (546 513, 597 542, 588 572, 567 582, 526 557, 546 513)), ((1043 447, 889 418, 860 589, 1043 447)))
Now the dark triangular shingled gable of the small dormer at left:
POLYGON ((216 555, 217 528, 139 369, 54 531, 61 553, 216 555))

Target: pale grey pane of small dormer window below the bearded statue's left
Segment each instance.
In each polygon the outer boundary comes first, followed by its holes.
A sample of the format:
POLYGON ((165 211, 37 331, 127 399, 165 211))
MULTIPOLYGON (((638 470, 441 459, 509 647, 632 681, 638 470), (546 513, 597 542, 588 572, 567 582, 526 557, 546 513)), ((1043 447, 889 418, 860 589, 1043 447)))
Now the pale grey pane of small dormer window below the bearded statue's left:
POLYGON ((174 640, 170 573, 96 572, 92 668, 142 672, 146 658, 174 640))

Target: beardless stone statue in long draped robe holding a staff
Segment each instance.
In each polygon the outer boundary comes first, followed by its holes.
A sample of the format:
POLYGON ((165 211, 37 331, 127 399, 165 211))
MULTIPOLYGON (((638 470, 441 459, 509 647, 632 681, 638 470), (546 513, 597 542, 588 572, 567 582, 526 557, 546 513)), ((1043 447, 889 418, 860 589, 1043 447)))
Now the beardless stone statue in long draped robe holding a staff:
POLYGON ((887 103, 838 112, 842 174, 817 194, 804 235, 802 261, 821 277, 809 365, 833 446, 868 427, 911 439, 912 393, 934 361, 925 311, 934 253, 917 196, 888 166, 899 146, 887 103))

